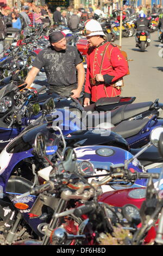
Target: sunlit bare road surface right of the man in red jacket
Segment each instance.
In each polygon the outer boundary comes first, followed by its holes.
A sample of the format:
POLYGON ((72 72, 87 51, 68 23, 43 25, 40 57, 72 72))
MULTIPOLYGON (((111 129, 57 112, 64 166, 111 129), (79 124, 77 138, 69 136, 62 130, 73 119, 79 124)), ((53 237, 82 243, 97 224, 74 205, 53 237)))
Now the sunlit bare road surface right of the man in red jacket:
MULTIPOLYGON (((118 44, 118 41, 115 41, 118 44)), ((151 45, 145 52, 135 47, 135 37, 122 38, 122 50, 127 52, 130 75, 124 77, 122 96, 136 96, 136 102, 163 102, 163 59, 159 57, 158 32, 151 33, 151 45)))

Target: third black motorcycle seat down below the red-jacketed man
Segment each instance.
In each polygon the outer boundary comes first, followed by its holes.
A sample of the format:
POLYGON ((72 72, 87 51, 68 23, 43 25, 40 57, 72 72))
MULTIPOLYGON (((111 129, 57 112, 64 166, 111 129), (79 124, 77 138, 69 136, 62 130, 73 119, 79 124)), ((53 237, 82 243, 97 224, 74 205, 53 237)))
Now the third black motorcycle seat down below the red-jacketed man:
POLYGON ((126 120, 111 128, 111 131, 120 134, 124 139, 126 139, 139 133, 148 122, 148 118, 130 121, 126 120))

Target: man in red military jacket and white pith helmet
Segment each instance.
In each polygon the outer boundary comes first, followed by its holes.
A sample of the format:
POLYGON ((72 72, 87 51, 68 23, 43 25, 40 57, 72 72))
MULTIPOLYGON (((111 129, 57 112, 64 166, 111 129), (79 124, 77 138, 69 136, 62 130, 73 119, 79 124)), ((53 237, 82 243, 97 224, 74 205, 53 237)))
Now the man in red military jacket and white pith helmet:
POLYGON ((87 21, 84 34, 90 46, 86 58, 84 99, 84 106, 88 106, 90 102, 96 102, 101 97, 115 97, 121 94, 120 78, 127 75, 128 63, 119 48, 105 40, 105 34, 98 21, 87 21))

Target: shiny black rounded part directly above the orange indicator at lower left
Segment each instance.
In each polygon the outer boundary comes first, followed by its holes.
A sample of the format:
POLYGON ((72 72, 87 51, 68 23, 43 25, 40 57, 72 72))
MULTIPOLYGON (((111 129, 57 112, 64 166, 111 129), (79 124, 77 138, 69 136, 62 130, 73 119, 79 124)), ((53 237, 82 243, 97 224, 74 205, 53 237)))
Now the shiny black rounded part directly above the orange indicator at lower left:
POLYGON ((32 189, 33 182, 20 176, 10 176, 6 191, 10 193, 26 193, 32 189))

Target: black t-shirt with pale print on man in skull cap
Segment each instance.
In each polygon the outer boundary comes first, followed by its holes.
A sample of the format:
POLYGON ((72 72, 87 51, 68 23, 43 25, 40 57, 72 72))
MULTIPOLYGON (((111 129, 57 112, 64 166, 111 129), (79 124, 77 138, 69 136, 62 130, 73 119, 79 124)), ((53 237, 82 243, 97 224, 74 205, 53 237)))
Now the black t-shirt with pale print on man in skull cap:
POLYGON ((70 86, 77 83, 76 66, 83 62, 83 57, 77 47, 67 45, 66 50, 55 51, 48 47, 39 52, 33 66, 44 68, 49 84, 54 86, 70 86))

